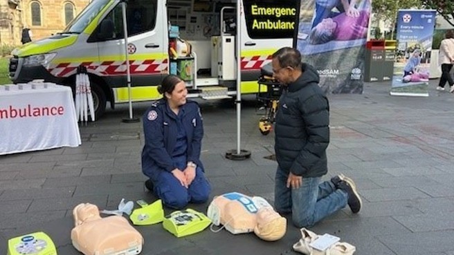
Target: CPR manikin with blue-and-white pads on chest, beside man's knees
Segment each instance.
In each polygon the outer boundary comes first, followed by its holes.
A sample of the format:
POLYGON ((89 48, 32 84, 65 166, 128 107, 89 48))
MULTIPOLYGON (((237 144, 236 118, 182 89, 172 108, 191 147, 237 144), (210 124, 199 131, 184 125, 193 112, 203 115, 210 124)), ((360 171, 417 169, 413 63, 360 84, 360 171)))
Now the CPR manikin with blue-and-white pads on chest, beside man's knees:
POLYGON ((231 192, 216 196, 207 212, 212 225, 223 225, 232 234, 254 232, 266 241, 279 240, 287 231, 287 219, 280 216, 264 198, 231 192))

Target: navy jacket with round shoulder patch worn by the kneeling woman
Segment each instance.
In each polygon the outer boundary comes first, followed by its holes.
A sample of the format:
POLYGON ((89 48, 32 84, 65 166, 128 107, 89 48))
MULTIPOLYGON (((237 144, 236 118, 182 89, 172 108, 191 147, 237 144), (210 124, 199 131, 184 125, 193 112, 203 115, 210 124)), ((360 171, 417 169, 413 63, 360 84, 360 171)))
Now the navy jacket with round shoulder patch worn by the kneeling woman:
MULTIPOLYGON (((176 169, 172 153, 176 145, 178 126, 176 115, 170 112, 165 100, 159 100, 150 106, 143 115, 145 146, 142 151, 142 171, 145 176, 156 180, 160 171, 176 169)), ((200 161, 203 124, 199 104, 188 100, 180 107, 183 114, 181 122, 188 139, 187 162, 192 161, 203 170, 200 161)), ((184 169, 180 169, 184 170, 184 169)))

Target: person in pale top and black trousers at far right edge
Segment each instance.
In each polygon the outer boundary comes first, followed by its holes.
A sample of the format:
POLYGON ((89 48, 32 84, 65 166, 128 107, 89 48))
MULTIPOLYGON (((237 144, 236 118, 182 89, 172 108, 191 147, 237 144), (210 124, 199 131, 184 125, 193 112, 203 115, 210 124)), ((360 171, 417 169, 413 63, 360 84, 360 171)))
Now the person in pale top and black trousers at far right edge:
POLYGON ((442 77, 440 77, 437 91, 444 91, 444 84, 448 82, 451 93, 454 92, 453 77, 449 73, 454 64, 454 30, 446 31, 445 39, 442 40, 439 48, 438 65, 442 66, 442 77))

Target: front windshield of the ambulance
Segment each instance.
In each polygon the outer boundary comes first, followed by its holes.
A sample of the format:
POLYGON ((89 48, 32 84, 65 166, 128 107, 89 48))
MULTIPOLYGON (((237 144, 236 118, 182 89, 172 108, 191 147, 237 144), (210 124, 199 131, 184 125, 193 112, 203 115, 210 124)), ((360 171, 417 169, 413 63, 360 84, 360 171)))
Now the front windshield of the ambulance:
POLYGON ((75 17, 75 19, 73 19, 73 21, 66 26, 62 33, 80 34, 83 32, 84 29, 89 26, 89 23, 91 23, 96 15, 98 15, 98 13, 102 10, 102 8, 105 8, 109 1, 111 0, 91 1, 87 8, 82 10, 78 17, 75 17))

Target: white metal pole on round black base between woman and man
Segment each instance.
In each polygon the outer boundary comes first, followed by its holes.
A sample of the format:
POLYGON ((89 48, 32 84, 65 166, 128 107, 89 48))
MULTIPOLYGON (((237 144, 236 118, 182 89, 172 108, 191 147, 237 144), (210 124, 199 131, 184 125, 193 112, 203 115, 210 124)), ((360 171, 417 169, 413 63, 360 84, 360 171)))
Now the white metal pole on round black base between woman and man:
MULTIPOLYGON (((251 158, 251 151, 240 148, 241 145, 241 10, 242 1, 237 1, 237 149, 226 152, 229 160, 246 160, 251 158)), ((221 21, 222 22, 222 21, 221 21)))

